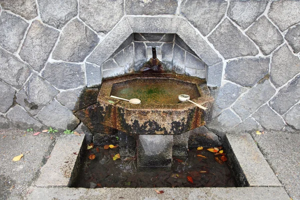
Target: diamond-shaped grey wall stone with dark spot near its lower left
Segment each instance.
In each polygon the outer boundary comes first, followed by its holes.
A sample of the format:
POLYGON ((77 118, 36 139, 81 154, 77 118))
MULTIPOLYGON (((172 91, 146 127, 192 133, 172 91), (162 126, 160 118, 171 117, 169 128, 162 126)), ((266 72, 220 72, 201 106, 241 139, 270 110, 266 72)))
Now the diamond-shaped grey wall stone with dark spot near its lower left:
POLYGON ((24 87, 17 92, 16 102, 35 115, 58 93, 59 91, 43 78, 33 74, 24 87))

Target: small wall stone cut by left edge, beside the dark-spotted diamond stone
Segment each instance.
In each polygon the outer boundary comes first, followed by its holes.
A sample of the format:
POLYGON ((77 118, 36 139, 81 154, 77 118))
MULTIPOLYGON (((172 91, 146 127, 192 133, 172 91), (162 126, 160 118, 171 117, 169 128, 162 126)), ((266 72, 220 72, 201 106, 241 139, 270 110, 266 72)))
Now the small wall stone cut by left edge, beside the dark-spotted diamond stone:
POLYGON ((13 103, 15 90, 0 81, 0 112, 6 112, 13 103))

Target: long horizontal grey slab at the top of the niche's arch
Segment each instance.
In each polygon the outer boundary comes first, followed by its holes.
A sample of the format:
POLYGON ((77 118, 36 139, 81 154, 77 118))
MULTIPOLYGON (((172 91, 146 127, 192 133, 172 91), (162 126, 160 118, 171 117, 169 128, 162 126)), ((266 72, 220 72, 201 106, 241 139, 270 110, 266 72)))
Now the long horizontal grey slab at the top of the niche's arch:
POLYGON ((175 16, 126 16, 133 32, 176 33, 181 18, 175 16))

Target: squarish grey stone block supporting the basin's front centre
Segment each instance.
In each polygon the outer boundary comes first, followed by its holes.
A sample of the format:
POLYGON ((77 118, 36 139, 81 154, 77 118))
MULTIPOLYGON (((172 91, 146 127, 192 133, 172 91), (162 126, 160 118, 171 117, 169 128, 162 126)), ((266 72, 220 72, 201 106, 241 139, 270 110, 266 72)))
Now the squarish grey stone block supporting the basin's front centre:
POLYGON ((172 165, 173 135, 137 137, 137 167, 170 167, 172 165))

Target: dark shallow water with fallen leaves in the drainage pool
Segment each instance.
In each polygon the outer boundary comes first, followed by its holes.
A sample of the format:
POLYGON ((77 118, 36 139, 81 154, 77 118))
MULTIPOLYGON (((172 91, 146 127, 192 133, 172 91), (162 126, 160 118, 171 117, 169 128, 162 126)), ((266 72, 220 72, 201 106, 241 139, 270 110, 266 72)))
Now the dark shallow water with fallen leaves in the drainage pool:
POLYGON ((234 187, 227 162, 205 148, 188 151, 187 158, 173 157, 171 169, 137 169, 134 157, 113 160, 118 148, 102 146, 86 150, 79 177, 73 187, 234 187), (94 159, 89 159, 91 154, 94 159), (202 155, 205 156, 197 156, 202 155), (217 157, 219 162, 215 159, 217 157))

